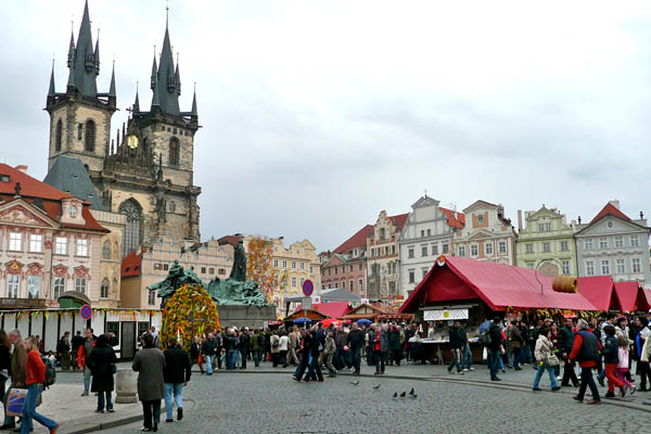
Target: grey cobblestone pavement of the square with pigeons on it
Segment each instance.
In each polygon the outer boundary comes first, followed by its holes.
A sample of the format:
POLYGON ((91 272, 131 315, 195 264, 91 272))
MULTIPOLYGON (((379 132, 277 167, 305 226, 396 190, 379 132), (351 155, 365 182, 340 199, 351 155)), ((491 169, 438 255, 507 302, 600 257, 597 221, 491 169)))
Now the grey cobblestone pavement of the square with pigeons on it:
MULTIPOLYGON (((387 374, 427 369, 447 375, 444 368, 431 366, 390 367, 387 374)), ((323 383, 296 383, 291 380, 290 368, 286 373, 270 372, 267 366, 259 371, 258 374, 221 371, 212 376, 193 374, 184 391, 193 400, 186 419, 174 423, 163 421, 159 432, 622 434, 651 431, 647 422, 649 412, 639 409, 576 404, 571 392, 533 393, 528 388, 534 375, 531 368, 505 374, 505 380, 522 379, 521 385, 511 386, 503 384, 507 381, 499 384, 448 381, 487 378, 483 367, 469 375, 449 375, 445 380, 340 375, 327 378, 323 383), (352 384, 354 381, 359 384, 352 384), (379 384, 380 388, 374 390, 379 384), (392 398, 395 392, 408 392, 411 387, 418 398, 392 398)), ((368 372, 368 367, 365 371, 368 372)), ((136 433, 140 426, 141 423, 133 423, 106 432, 136 433)))

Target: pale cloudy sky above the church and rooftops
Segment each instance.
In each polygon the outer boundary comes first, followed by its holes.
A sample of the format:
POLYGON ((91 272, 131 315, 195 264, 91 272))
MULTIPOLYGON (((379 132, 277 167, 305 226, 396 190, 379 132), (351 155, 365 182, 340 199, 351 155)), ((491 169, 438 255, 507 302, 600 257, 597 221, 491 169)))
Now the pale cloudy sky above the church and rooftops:
MULTIPOLYGON (((149 110, 164 0, 90 0, 98 90, 115 60, 112 130, 140 82, 149 110)), ((0 161, 47 170, 42 111, 82 0, 5 2, 0 161)), ((182 111, 196 82, 194 180, 203 239, 308 239, 335 248, 425 190, 558 207, 591 219, 609 200, 651 213, 651 2, 169 1, 182 111)))

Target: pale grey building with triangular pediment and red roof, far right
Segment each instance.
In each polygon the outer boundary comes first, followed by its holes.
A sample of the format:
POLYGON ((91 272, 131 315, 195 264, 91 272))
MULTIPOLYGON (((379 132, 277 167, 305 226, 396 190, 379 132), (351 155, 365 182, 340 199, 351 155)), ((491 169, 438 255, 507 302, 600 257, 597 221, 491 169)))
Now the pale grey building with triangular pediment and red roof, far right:
POLYGON ((612 276, 615 281, 637 280, 649 286, 647 219, 630 219, 611 201, 589 222, 575 227, 578 276, 612 276))

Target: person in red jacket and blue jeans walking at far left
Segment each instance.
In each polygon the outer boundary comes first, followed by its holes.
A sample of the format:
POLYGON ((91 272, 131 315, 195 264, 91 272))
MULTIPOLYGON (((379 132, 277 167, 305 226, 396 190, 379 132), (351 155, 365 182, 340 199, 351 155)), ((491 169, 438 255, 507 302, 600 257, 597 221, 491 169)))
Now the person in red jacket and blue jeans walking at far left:
POLYGON ((27 337, 25 340, 25 347, 27 349, 27 380, 25 382, 27 385, 27 397, 25 398, 25 406, 23 407, 23 424, 21 425, 21 433, 28 434, 29 431, 31 431, 31 419, 49 429, 50 434, 56 433, 59 423, 36 412, 36 404, 43 391, 43 383, 46 382, 46 365, 41 360, 40 353, 38 352, 37 339, 34 336, 27 337))

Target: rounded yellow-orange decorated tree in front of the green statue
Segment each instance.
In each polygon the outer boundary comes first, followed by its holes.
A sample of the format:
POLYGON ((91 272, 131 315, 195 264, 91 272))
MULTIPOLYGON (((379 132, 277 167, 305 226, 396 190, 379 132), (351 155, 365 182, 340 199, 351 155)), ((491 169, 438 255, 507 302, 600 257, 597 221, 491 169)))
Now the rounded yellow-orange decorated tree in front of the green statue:
POLYGON ((213 298, 202 285, 178 289, 163 310, 161 346, 167 347, 168 337, 179 339, 179 345, 190 350, 192 337, 219 329, 219 316, 213 298))

